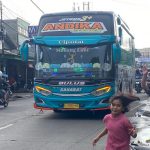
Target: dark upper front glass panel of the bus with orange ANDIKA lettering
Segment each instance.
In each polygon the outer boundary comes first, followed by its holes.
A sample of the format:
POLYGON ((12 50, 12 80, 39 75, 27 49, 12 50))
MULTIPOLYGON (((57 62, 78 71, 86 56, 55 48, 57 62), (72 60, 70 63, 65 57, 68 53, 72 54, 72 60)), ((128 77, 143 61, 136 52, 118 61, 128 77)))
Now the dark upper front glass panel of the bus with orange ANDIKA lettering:
POLYGON ((67 13, 42 17, 40 36, 78 36, 114 34, 113 15, 109 13, 67 13))

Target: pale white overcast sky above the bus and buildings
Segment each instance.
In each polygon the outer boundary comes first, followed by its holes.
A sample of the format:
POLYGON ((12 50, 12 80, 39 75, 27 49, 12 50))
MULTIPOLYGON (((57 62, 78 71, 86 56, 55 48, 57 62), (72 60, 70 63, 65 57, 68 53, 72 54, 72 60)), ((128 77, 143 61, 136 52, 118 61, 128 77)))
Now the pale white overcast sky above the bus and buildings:
POLYGON ((128 24, 137 49, 150 48, 150 0, 2 0, 3 18, 23 18, 30 25, 38 25, 44 13, 73 10, 73 3, 82 11, 83 2, 90 3, 91 11, 114 11, 128 24), (10 10, 9 10, 10 9, 10 10))

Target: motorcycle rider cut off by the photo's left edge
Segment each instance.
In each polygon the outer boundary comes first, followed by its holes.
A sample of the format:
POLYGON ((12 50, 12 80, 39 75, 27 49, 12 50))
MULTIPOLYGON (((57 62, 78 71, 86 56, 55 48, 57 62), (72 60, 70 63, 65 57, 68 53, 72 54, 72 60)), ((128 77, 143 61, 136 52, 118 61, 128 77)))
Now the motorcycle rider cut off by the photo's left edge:
POLYGON ((7 102, 5 102, 5 100, 6 100, 6 96, 5 96, 6 91, 5 90, 8 87, 8 83, 2 78, 2 76, 3 76, 3 73, 2 73, 2 71, 0 71, 0 98, 2 100, 2 103, 7 103, 7 102))

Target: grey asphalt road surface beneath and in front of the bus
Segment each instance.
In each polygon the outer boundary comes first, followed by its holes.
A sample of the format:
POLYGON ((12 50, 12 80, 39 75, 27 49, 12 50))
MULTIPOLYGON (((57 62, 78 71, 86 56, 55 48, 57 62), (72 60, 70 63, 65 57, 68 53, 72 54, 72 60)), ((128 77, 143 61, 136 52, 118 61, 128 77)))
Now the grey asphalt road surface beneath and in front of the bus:
MULTIPOLYGON (((140 105, 133 103, 127 116, 132 118, 140 105)), ((104 127, 102 117, 91 112, 42 113, 33 108, 33 98, 19 98, 6 109, 0 107, 0 150, 93 150, 92 139, 104 127)), ((103 150, 105 141, 94 149, 103 150)))

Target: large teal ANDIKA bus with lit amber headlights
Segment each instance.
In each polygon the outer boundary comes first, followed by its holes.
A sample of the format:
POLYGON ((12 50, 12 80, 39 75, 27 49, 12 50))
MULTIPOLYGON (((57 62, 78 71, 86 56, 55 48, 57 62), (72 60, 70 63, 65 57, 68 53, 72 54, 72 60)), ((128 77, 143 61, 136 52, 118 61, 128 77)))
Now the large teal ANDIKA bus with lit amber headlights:
POLYGON ((37 36, 20 47, 26 61, 29 45, 37 109, 104 110, 115 93, 133 94, 134 37, 114 12, 45 14, 37 36))

